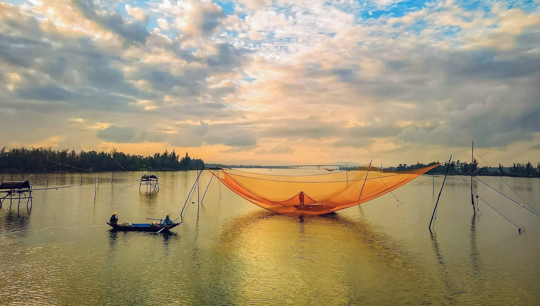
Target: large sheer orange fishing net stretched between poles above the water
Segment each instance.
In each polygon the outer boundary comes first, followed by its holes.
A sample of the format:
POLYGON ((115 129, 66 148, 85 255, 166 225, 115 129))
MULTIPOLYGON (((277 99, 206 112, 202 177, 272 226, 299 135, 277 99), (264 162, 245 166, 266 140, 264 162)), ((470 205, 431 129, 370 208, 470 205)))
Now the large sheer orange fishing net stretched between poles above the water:
POLYGON ((438 165, 411 171, 388 171, 366 165, 315 175, 271 175, 237 169, 207 169, 234 193, 271 212, 320 215, 373 200, 438 165))

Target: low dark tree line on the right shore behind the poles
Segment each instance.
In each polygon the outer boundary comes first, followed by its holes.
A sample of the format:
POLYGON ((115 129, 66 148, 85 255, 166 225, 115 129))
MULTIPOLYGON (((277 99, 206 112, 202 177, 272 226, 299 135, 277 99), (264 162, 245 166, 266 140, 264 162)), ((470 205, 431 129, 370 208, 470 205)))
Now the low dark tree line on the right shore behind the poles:
MULTIPOLYGON (((438 161, 430 162, 429 164, 421 164, 416 162, 414 165, 399 164, 397 167, 390 167, 389 170, 395 171, 410 171, 414 169, 419 169, 423 167, 433 166, 438 164, 438 161)), ((446 167, 439 165, 426 174, 444 174, 446 173, 446 167)), ((453 161, 452 166, 448 170, 449 175, 503 175, 503 176, 521 176, 521 177, 534 177, 540 178, 540 162, 537 163, 536 167, 528 161, 527 164, 521 164, 519 162, 514 162, 512 166, 505 167, 499 164, 498 167, 478 167, 478 161, 473 159, 473 162, 462 162, 460 160, 453 161)))

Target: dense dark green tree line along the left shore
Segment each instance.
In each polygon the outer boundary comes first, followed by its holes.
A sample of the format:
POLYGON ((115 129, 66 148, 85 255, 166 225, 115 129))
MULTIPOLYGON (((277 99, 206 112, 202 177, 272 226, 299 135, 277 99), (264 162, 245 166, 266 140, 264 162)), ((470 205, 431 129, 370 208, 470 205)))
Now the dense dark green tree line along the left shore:
POLYGON ((140 171, 140 170, 195 170, 204 165, 202 159, 193 159, 186 152, 180 158, 174 149, 163 153, 143 156, 126 154, 113 148, 109 152, 97 152, 63 148, 14 147, 0 150, 0 171, 2 172, 44 172, 44 171, 140 171))

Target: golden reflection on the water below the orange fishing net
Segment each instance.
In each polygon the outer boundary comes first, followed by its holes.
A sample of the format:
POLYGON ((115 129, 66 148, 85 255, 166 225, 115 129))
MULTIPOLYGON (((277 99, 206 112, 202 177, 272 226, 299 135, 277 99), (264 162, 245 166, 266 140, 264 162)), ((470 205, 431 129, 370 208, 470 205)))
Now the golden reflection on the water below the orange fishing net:
POLYGON ((218 303, 265 303, 275 291, 293 304, 305 296, 315 296, 321 304, 357 303, 373 296, 371 290, 386 288, 386 277, 397 287, 414 284, 430 290, 426 282, 415 283, 425 276, 416 255, 369 222, 340 214, 299 217, 257 211, 235 217, 221 230, 214 253, 213 269, 221 278, 242 280, 212 283, 211 290, 225 299, 218 303))

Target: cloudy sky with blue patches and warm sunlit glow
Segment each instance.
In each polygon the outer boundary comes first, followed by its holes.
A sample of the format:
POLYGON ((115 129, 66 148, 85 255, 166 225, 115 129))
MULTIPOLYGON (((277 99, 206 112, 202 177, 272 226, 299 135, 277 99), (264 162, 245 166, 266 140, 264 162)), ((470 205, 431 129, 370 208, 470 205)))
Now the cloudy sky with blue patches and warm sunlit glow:
POLYGON ((470 160, 474 140, 536 165, 540 1, 8 0, 0 131, 229 165, 470 160))

